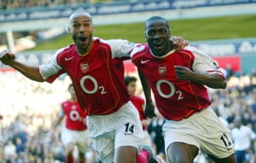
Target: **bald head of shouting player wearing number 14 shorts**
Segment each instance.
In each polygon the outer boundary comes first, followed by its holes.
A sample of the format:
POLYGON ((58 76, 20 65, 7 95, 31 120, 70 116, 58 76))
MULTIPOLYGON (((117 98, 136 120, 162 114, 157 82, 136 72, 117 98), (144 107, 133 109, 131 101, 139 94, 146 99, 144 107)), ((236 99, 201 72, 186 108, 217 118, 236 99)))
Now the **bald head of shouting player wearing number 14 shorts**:
POLYGON ((94 31, 90 14, 72 14, 69 21, 70 26, 68 27, 68 31, 72 35, 73 42, 75 42, 79 54, 88 53, 93 44, 92 37, 94 31))

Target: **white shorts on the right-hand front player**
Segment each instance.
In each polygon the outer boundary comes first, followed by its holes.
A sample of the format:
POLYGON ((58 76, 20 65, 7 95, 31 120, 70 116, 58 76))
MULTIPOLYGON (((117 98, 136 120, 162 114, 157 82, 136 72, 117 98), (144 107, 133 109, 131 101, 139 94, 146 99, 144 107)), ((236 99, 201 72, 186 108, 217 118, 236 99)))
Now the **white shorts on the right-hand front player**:
POLYGON ((183 142, 219 159, 234 153, 230 133, 210 107, 182 121, 166 121, 163 132, 166 151, 171 143, 183 142))

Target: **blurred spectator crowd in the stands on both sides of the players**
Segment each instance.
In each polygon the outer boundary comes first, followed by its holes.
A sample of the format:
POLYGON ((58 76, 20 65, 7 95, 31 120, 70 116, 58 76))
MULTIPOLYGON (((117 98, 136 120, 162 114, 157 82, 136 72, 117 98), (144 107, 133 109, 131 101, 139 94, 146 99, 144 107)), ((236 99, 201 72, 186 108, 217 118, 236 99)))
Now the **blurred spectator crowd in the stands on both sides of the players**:
MULTIPOLYGON (((61 76, 52 84, 38 83, 16 71, 0 71, 0 79, 0 115, 3 115, 3 119, 0 118, 0 162, 65 162, 60 137, 50 137, 49 131, 61 102, 68 98, 69 78, 61 76)), ((142 93, 141 90, 138 93, 142 93)), ((209 89, 209 93, 212 108, 227 123, 230 132, 236 127, 237 119, 256 132, 256 69, 249 75, 230 71, 228 88, 209 89)), ((164 121, 158 114, 148 126, 154 151, 162 162, 165 162, 161 132, 164 121)), ((58 130, 56 134, 60 135, 61 126, 58 130)), ((255 162, 255 138, 250 140, 247 149, 250 163, 255 162)), ((90 160, 88 162, 99 162, 91 145, 84 155, 90 160)))

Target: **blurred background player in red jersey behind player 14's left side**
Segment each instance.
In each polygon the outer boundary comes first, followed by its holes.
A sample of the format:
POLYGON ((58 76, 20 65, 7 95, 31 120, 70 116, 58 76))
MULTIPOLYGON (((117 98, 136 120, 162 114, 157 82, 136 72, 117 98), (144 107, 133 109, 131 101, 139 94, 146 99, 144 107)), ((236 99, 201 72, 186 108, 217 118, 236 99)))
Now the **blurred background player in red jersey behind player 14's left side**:
POLYGON ((65 127, 61 130, 61 142, 67 149, 67 163, 73 163, 73 149, 77 146, 79 151, 79 163, 85 163, 85 152, 88 146, 88 133, 86 126, 86 114, 79 106, 77 96, 73 85, 68 86, 70 99, 61 103, 61 110, 58 119, 52 129, 52 135, 55 135, 55 129, 65 119, 65 127))

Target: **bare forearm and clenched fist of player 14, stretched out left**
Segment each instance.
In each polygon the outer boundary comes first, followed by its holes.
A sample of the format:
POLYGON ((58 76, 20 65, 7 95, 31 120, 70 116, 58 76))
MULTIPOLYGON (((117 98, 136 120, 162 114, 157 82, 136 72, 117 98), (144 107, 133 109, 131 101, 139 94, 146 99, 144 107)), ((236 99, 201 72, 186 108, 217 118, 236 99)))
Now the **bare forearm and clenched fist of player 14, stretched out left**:
POLYGON ((0 53, 0 60, 4 65, 9 65, 15 70, 20 71, 21 74, 26 76, 27 78, 36 81, 36 82, 44 82, 43 77, 39 73, 39 68, 35 66, 29 66, 22 64, 15 60, 15 54, 9 50, 4 50, 0 53))

